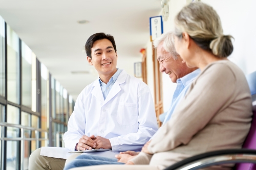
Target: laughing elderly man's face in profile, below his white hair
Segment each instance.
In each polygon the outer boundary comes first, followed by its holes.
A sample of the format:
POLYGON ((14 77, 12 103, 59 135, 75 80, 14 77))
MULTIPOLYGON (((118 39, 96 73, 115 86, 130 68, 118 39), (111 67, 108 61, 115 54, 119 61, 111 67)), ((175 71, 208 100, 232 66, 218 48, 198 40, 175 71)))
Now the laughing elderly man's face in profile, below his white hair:
POLYGON ((163 42, 157 46, 157 59, 160 63, 160 71, 169 75, 173 83, 184 76, 185 64, 182 63, 180 57, 175 60, 170 53, 166 52, 163 48, 163 42))

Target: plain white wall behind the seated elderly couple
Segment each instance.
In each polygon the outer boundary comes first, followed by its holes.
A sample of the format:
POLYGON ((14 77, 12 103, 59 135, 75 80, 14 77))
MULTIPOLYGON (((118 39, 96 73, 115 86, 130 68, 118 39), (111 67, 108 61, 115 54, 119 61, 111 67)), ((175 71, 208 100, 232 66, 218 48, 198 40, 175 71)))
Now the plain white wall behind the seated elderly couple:
MULTIPOLYGON (((256 70, 256 6, 254 0, 233 1, 233 0, 201 0, 212 6, 219 14, 224 34, 234 37, 234 51, 229 57, 236 63, 245 74, 256 70)), ((186 5, 186 0, 169 1, 169 17, 163 23, 163 31, 174 29, 174 18, 177 13, 186 5)), ((161 15, 161 13, 159 14, 161 15)), ((150 40, 146 43, 147 48, 147 84, 154 97, 153 82, 153 61, 152 46, 150 40)), ((176 84, 172 83, 167 75, 162 76, 163 81, 163 107, 164 112, 168 110, 176 84)))

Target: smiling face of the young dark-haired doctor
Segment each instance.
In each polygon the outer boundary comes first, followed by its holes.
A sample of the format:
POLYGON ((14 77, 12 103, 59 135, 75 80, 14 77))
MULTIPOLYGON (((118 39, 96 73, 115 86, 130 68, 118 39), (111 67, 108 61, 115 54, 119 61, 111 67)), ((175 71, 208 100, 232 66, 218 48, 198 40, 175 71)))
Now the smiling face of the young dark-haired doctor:
POLYGON ((95 41, 91 51, 92 58, 87 57, 87 60, 99 75, 113 75, 116 72, 117 54, 110 40, 95 41))

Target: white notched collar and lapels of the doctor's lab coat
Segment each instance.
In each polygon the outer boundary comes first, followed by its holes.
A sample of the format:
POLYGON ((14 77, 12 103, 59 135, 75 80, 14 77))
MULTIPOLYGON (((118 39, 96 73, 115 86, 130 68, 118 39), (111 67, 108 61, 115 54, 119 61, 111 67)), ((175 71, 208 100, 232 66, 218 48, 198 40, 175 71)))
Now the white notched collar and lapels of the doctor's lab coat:
POLYGON ((103 106, 106 103, 108 103, 112 98, 114 98, 114 96, 121 90, 120 84, 125 82, 126 77, 127 77, 127 73, 124 70, 122 70, 116 82, 114 83, 113 87, 111 88, 110 93, 108 94, 108 96, 106 96, 105 100, 103 98, 103 94, 102 94, 98 79, 94 81, 93 83, 94 88, 91 93, 101 102, 102 104, 101 106, 103 106))

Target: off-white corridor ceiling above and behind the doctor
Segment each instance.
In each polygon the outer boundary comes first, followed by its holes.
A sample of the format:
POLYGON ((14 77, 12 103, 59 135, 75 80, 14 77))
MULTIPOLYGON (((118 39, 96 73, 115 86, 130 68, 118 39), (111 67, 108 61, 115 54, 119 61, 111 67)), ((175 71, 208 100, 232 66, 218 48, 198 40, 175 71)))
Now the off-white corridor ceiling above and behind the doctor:
POLYGON ((117 66, 133 75, 140 48, 150 37, 149 17, 160 10, 160 0, 0 0, 0 15, 74 100, 97 78, 83 50, 87 39, 97 32, 112 34, 117 66))

